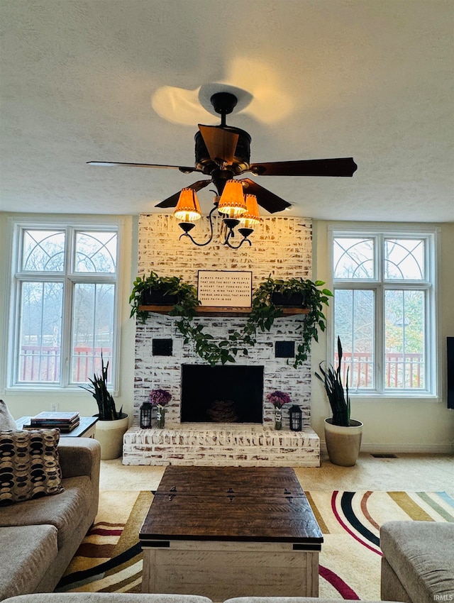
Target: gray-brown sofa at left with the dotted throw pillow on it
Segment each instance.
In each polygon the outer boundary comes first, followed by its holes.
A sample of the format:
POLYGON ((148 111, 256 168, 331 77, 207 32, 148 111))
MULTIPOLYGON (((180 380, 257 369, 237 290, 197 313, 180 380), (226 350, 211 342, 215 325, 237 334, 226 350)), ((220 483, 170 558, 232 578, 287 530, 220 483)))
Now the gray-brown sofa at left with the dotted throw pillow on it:
POLYGON ((52 592, 96 516, 99 442, 62 438, 58 450, 64 492, 0 507, 0 600, 52 592))

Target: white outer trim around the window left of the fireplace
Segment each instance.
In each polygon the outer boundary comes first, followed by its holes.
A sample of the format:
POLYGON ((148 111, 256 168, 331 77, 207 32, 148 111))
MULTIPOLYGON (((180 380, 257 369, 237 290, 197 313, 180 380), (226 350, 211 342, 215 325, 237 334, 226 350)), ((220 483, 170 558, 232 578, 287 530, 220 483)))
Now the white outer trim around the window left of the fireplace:
MULTIPOLYGON (((11 314, 11 309, 14 309, 13 312, 16 312, 17 309, 17 300, 16 300, 16 288, 12 286, 14 279, 14 267, 16 265, 16 259, 18 258, 18 253, 20 253, 19 245, 20 245, 20 237, 18 233, 21 228, 59 228, 59 227, 67 227, 77 229, 85 229, 85 228, 97 228, 102 230, 105 228, 109 230, 109 228, 116 227, 117 229, 117 280, 116 280, 116 299, 115 299, 115 309, 114 309, 114 350, 113 350, 113 361, 112 361, 112 389, 111 392, 114 396, 119 395, 118 384, 119 384, 119 375, 120 375, 120 367, 119 367, 119 359, 120 359, 120 326, 121 326, 121 292, 123 289, 123 270, 122 270, 122 256, 123 256, 123 226, 124 226, 124 218, 118 216, 62 216, 58 215, 29 215, 29 214, 21 214, 20 217, 9 217, 8 218, 8 240, 7 240, 7 249, 8 249, 8 257, 6 258, 7 269, 7 285, 6 289, 9 292, 5 296, 5 311, 4 311, 4 328, 3 333, 5 333, 8 338, 7 341, 7 352, 4 354, 4 362, 0 367, 0 377, 1 382, 5 384, 5 387, 1 388, 2 394, 23 394, 23 392, 54 392, 55 394, 61 394, 62 392, 82 392, 82 389, 79 385, 70 385, 67 383, 67 380, 62 380, 62 384, 60 385, 49 385, 49 384, 18 384, 13 385, 13 360, 9 360, 13 358, 13 338, 16 336, 15 328, 16 328, 16 320, 15 316, 11 314)), ((72 264, 72 259, 71 259, 72 264)), ((67 279, 67 275, 65 275, 64 280, 67 279)), ((82 282, 82 281, 79 281, 82 282)), ((74 284, 74 281, 72 281, 74 284)), ((65 304, 64 311, 70 311, 70 304, 65 304)), ((67 319, 67 316, 65 316, 67 319)), ((64 346, 64 350, 62 353, 62 363, 65 363, 67 367, 69 363, 69 356, 67 346, 69 345, 66 342, 62 342, 64 346)), ((63 375, 66 375, 67 369, 63 372, 63 375)))

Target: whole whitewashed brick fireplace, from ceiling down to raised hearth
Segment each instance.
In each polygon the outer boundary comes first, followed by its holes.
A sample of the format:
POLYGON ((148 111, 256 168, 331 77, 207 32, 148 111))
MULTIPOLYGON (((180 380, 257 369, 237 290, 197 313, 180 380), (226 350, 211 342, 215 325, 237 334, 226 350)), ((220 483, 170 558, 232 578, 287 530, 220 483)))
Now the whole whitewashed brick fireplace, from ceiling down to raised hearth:
MULTIPOLYGON (((172 216, 141 215, 139 274, 154 270, 159 275, 181 276, 196 285, 198 270, 249 270, 253 287, 270 274, 284 279, 311 277, 311 221, 304 218, 265 218, 253 235, 253 247, 244 250, 213 243, 207 245, 208 249, 197 248, 178 237, 177 221, 172 216)), ((226 377, 221 367, 213 369, 218 374, 211 374, 210 367, 190 345, 184 345, 175 321, 171 316, 150 314, 144 325, 136 326, 134 421, 124 436, 123 464, 319 466, 319 438, 310 427, 311 365, 308 362, 294 369, 292 358, 277 353, 276 345, 297 341, 304 318, 277 319, 272 331, 258 335, 258 343, 248 356, 239 353, 235 364, 223 367, 226 377), (192 385, 189 374, 195 375, 192 385), (208 387, 213 396, 203 387, 197 389, 202 379, 207 384, 211 379, 208 387), (222 379, 226 385, 214 392, 214 384, 222 379), (233 387, 229 383, 245 385, 233 387), (139 427, 140 405, 155 388, 172 394, 166 406, 165 428, 144 430, 139 427), (238 402, 242 389, 248 391, 238 402), (275 431, 274 408, 266 402, 266 395, 275 389, 287 392, 301 407, 303 431, 289 431, 289 409, 285 406, 282 431, 275 431), (248 408, 254 397, 260 397, 261 404, 257 409, 255 400, 255 412, 248 408), (236 422, 218 422, 229 400, 236 422), (213 420, 213 406, 218 410, 219 404, 221 415, 214 413, 213 420)), ((245 319, 212 316, 194 321, 202 321, 209 333, 223 339, 228 331, 240 328, 245 319)))

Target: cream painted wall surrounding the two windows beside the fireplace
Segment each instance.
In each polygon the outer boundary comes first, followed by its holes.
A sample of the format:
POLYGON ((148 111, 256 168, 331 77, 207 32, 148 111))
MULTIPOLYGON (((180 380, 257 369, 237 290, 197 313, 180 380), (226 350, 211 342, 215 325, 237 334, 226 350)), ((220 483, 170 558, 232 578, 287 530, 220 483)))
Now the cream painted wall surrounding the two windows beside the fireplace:
MULTIPOLYGON (((0 365, 4 360, 6 333, 6 271, 9 258, 7 218, 9 214, 0 213, 0 365)), ((49 216, 51 217, 51 216, 49 216)), ((123 237, 123 256, 121 270, 124 274, 124 286, 121 309, 121 375, 116 402, 132 414, 133 409, 133 369, 135 322, 129 319, 128 297, 132 282, 137 273, 138 221, 137 218, 123 216, 125 228, 123 237)), ((374 223, 374 226, 377 226, 374 223)), ((387 225, 389 226, 389 225, 387 225)), ((394 224, 394 226, 396 226, 394 224)), ((408 225, 406 225, 408 226, 408 225)), ((353 402, 353 416, 365 424, 363 450, 450 452, 454 439, 454 411, 446 409, 446 351, 445 338, 454 336, 454 223, 438 225, 441 227, 440 245, 441 264, 438 271, 439 284, 439 320, 441 360, 441 398, 428 400, 356 400, 353 402)), ((417 225, 415 225, 417 228, 417 225)), ((232 253, 235 253, 232 250, 232 253)), ((314 274, 313 278, 326 280, 329 286, 327 223, 314 223, 314 274)), ((321 333, 319 343, 313 346, 313 371, 321 360, 326 359, 326 336, 321 333)), ((51 402, 59 402, 61 410, 77 409, 81 414, 96 412, 94 399, 84 391, 24 394, 23 392, 5 392, 5 384, 0 383, 0 395, 6 401, 13 416, 37 414, 50 409, 51 402)), ((328 416, 328 403, 319 382, 313 382, 312 426, 323 438, 323 419, 328 416)))

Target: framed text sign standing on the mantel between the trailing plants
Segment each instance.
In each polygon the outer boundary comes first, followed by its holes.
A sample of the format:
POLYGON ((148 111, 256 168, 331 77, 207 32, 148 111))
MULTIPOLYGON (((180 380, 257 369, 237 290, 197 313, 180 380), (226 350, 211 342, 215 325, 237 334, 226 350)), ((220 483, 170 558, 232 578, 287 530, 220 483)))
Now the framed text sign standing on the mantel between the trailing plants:
POLYGON ((252 272, 199 270, 198 296, 202 306, 250 308, 252 294, 252 272))

